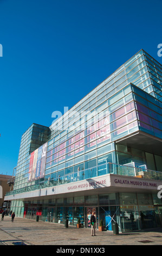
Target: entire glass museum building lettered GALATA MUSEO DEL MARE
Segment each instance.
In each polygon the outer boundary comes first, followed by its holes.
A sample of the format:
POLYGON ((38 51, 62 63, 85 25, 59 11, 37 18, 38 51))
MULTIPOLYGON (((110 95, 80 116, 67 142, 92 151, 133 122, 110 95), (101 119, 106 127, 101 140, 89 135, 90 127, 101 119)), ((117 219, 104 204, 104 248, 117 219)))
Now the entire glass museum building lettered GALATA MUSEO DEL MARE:
POLYGON ((94 211, 105 230, 161 227, 161 88, 162 65, 140 50, 50 127, 32 124, 5 195, 16 216, 89 228, 94 211))

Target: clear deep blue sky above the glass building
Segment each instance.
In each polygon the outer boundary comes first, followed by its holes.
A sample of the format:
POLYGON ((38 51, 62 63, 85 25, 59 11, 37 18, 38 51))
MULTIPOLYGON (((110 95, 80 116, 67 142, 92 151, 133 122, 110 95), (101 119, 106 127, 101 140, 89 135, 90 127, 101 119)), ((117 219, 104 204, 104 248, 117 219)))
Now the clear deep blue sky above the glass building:
POLYGON ((141 48, 162 62, 161 10, 161 0, 0 1, 0 174, 12 174, 31 124, 50 126, 141 48))

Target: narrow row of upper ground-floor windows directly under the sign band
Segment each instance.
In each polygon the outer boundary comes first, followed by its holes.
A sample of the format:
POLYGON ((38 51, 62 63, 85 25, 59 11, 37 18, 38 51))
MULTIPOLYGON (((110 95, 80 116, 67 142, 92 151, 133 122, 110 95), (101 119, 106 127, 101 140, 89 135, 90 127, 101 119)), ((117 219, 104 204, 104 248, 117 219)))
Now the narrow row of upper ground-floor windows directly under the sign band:
POLYGON ((157 194, 150 193, 109 193, 69 198, 54 198, 22 202, 12 200, 11 206, 84 206, 84 205, 153 205, 157 204, 157 194))

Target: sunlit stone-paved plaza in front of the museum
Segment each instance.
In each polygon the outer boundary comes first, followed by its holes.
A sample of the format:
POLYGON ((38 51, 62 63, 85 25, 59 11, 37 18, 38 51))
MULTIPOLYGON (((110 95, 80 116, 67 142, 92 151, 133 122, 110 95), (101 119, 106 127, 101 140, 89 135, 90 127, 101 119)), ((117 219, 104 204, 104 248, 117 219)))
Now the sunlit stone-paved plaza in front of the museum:
POLYGON ((4 221, 0 221, 0 245, 162 245, 162 228, 119 235, 114 235, 113 231, 96 230, 96 236, 91 236, 88 228, 65 228, 63 224, 19 217, 12 223, 11 217, 4 216, 4 221))

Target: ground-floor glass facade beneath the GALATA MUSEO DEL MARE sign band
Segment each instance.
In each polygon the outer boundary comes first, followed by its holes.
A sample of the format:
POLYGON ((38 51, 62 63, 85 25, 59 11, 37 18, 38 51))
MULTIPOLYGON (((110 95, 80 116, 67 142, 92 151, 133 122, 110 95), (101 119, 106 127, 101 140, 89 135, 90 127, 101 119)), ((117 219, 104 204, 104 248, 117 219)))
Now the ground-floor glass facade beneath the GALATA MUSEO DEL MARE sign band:
POLYGON ((35 220, 39 216, 40 221, 60 224, 65 224, 68 219, 69 225, 76 226, 80 218, 82 227, 86 228, 90 227, 89 211, 95 209, 97 228, 102 219, 105 230, 113 230, 112 224, 115 221, 122 232, 159 227, 158 210, 161 213, 162 209, 155 207, 151 193, 108 193, 23 202, 17 200, 12 208, 21 217, 35 220))

